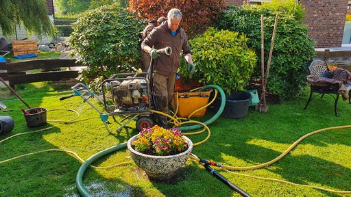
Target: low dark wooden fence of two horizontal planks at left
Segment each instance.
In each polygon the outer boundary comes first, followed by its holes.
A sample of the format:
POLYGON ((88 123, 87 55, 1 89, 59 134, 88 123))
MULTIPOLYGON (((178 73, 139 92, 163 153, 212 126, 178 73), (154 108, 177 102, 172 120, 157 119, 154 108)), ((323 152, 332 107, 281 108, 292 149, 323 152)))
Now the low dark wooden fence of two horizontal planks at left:
POLYGON ((9 82, 11 88, 14 85, 32 83, 39 81, 59 81, 74 79, 78 76, 79 70, 66 70, 68 67, 82 66, 75 63, 75 60, 27 60, 23 62, 0 62, 0 77, 9 82), (64 68, 61 70, 59 68, 64 68), (40 69, 38 73, 27 72, 40 69), (49 71, 45 71, 49 70, 49 71))

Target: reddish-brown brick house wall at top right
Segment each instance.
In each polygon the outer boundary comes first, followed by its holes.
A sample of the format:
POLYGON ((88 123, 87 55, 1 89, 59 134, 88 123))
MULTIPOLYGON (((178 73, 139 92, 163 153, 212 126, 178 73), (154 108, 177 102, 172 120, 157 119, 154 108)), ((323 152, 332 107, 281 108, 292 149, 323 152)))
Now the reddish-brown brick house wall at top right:
MULTIPOLYGON (((304 25, 316 48, 341 47, 348 0, 300 0, 306 9, 304 25)), ((227 5, 242 5, 243 0, 225 0, 227 5)))

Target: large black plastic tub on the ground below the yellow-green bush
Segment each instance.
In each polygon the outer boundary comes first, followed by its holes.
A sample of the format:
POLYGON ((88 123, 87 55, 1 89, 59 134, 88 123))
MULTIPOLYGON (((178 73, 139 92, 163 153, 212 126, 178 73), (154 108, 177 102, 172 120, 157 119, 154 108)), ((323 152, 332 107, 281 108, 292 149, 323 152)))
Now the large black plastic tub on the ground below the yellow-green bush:
MULTIPOLYGON (((249 110, 251 99, 251 94, 245 91, 232 92, 230 95, 226 93, 226 107, 224 107, 221 117, 232 119, 245 117, 249 110)), ((217 96, 213 103, 215 111, 218 111, 221 98, 217 96)))

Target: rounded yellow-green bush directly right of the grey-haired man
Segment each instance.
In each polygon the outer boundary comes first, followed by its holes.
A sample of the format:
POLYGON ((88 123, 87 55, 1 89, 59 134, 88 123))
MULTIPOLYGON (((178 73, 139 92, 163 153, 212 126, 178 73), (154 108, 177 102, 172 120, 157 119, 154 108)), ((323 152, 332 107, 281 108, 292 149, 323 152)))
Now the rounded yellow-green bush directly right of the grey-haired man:
POLYGON ((247 47, 247 40, 238 32, 218 31, 213 27, 193 38, 190 44, 196 64, 194 75, 199 81, 220 86, 228 94, 244 90, 257 61, 254 51, 247 47))

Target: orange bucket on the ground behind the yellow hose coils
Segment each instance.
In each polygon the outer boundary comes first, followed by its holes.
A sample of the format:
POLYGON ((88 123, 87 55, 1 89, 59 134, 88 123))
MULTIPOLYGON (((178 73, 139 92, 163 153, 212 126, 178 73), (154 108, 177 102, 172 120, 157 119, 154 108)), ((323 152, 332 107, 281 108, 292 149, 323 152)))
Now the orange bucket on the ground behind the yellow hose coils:
MULTIPOLYGON (((208 104, 208 99, 210 97, 210 93, 212 90, 208 92, 181 92, 173 93, 173 101, 172 107, 173 110, 177 109, 177 99, 178 99, 178 112, 177 116, 182 118, 187 118, 191 113, 195 110, 204 107, 208 104)), ((196 111, 191 117, 202 117, 206 113, 207 107, 204 109, 200 109, 196 111)))

